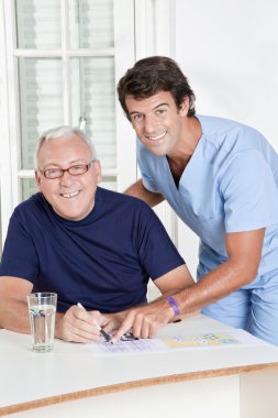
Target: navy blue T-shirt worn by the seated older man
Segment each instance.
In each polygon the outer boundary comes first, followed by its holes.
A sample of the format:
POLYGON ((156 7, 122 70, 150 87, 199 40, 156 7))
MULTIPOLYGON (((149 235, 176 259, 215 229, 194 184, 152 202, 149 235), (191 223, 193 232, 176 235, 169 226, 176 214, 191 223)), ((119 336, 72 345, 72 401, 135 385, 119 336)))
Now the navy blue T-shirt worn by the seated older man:
POLYGON ((62 312, 78 301, 116 312, 145 302, 148 278, 184 263, 146 204, 98 187, 92 211, 80 221, 59 217, 40 193, 20 204, 0 276, 25 278, 33 292, 56 292, 62 312))

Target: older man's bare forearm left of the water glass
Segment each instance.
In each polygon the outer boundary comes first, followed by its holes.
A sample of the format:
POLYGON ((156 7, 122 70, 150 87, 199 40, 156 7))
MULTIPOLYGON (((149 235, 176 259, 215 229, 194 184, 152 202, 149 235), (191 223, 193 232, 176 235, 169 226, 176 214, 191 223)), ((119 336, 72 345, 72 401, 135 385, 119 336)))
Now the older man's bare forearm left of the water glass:
POLYGON ((30 333, 27 304, 18 299, 4 299, 0 304, 0 328, 30 333))

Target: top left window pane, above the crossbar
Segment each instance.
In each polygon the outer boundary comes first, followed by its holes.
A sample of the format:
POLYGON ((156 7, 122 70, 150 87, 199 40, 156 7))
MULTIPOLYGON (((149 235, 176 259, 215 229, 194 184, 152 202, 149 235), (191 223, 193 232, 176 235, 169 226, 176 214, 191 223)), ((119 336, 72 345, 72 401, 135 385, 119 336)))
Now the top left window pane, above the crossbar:
POLYGON ((16 0, 19 48, 60 47, 59 0, 16 0))

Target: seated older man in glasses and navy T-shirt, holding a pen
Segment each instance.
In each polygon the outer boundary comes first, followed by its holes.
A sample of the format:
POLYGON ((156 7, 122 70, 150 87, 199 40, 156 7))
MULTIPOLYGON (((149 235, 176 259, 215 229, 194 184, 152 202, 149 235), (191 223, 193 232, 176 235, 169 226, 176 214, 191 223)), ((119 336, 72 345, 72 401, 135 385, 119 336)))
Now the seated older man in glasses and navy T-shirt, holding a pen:
POLYGON ((146 302, 149 277, 163 294, 192 285, 153 210, 98 187, 101 165, 82 131, 47 131, 35 158, 40 193, 15 208, 4 244, 0 327, 29 332, 26 296, 55 292, 56 337, 89 342, 99 338, 96 321, 110 329, 114 312, 146 302))

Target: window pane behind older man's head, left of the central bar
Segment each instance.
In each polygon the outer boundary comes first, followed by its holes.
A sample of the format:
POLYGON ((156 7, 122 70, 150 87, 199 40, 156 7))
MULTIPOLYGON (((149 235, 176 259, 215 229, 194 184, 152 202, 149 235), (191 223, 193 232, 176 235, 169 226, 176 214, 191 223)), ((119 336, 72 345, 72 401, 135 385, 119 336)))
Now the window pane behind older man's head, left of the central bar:
POLYGON ((63 124, 63 72, 60 59, 19 58, 21 168, 33 169, 36 140, 63 124))

